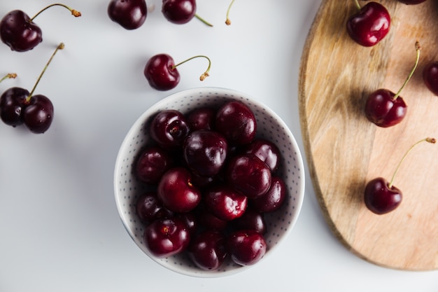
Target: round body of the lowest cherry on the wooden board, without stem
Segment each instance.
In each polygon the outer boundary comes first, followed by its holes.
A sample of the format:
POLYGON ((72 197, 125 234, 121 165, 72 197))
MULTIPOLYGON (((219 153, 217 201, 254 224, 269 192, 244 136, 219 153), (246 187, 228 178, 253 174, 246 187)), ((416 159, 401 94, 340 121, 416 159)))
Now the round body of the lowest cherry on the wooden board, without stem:
POLYGON ((365 205, 375 214, 386 214, 397 208, 402 202, 402 191, 391 186, 381 177, 373 179, 365 187, 365 205))

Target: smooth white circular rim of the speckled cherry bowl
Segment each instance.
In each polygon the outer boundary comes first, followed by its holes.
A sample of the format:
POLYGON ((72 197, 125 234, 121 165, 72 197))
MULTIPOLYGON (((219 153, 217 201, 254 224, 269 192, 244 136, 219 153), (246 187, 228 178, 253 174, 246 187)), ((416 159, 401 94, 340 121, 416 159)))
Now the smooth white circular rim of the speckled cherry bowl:
POLYGON ((220 272, 218 272, 216 270, 206 271, 206 270, 201 270, 201 269, 199 269, 199 271, 197 271, 197 272, 193 272, 191 270, 175 269, 173 267, 167 267, 166 265, 163 265, 163 263, 160 261, 160 260, 162 260, 161 258, 155 258, 146 249, 143 249, 141 246, 139 246, 139 244, 137 244, 137 242, 136 242, 137 239, 136 239, 135 235, 132 233, 132 230, 129 229, 129 225, 127 224, 127 222, 125 220, 125 216, 123 216, 123 214, 122 214, 123 207, 120 204, 119 195, 118 195, 118 193, 119 193, 118 192, 118 179, 120 178, 120 169, 119 169, 118 165, 120 165, 123 162, 122 161, 123 160, 122 156, 124 153, 123 150, 124 150, 126 144, 129 144, 129 141, 132 138, 133 132, 137 130, 136 126, 141 125, 142 123, 145 123, 146 119, 148 117, 150 117, 153 113, 155 113, 157 111, 157 109, 163 109, 166 104, 169 104, 169 100, 175 99, 177 97, 190 96, 190 95, 194 95, 194 94, 198 95, 201 92, 206 92, 206 93, 215 92, 218 95, 225 95, 225 97, 231 98, 231 99, 236 99, 233 97, 233 95, 236 95, 236 96, 239 96, 241 98, 243 97, 243 99, 249 100, 251 103, 255 104, 255 106, 259 106, 260 108, 264 109, 264 111, 266 111, 266 113, 269 116, 272 116, 273 118, 275 118, 278 125, 280 125, 282 127, 282 129, 285 131, 285 133, 288 134, 288 136, 290 137, 290 143, 292 144, 292 148, 294 149, 294 151, 296 153, 295 164, 299 168, 298 172, 299 172, 299 178, 300 178, 299 183, 297 184, 297 194, 295 195, 294 216, 292 216, 290 224, 288 224, 288 228, 285 230, 284 234, 281 236, 280 239, 278 239, 277 243, 274 244, 274 246, 271 246, 269 248, 269 252, 265 254, 265 256, 262 258, 262 260, 269 257, 271 255, 272 251, 277 249, 278 246, 281 246, 281 243, 288 237, 290 232, 292 232, 292 229, 294 228, 295 223, 297 222, 297 220, 299 218, 299 214, 301 213, 301 209, 302 209, 302 204, 304 202, 304 193, 305 193, 305 186, 306 186, 305 180, 306 179, 305 179, 304 160, 302 157, 302 152, 299 149, 299 145, 297 144, 297 141, 295 139, 294 134, 292 134, 288 125, 286 125, 284 120, 280 116, 278 116, 277 113, 275 113, 272 109, 270 109, 269 106, 267 106, 266 104, 255 99, 255 97, 247 94, 246 92, 241 92, 239 90, 233 90, 233 89, 221 88, 221 87, 190 88, 187 90, 181 90, 178 92, 174 92, 171 95, 168 95, 167 97, 163 97, 158 102, 155 102, 155 104, 150 105, 148 107, 148 109, 146 109, 146 111, 143 111, 143 113, 139 116, 139 118, 137 118, 134 121, 134 123, 132 123, 132 125, 129 127, 127 134, 125 134, 125 137, 122 139, 122 143, 120 144, 120 147, 119 147, 116 159, 115 159, 115 166, 114 166, 114 172, 113 172, 114 199, 115 199, 115 204, 116 204, 117 211, 118 211, 118 216, 120 218, 120 221, 122 221, 123 227, 128 232, 129 236, 134 241, 136 246, 139 247, 143 251, 143 253, 146 253, 146 255, 149 258, 151 258, 153 261, 155 261, 155 263, 158 263, 162 267, 167 268, 167 270, 171 270, 173 272, 177 272, 178 274, 183 274, 183 275, 187 275, 190 277, 198 277, 198 278, 226 277, 226 276, 231 275, 231 274, 243 272, 244 270, 247 270, 248 268, 252 267, 253 265, 242 266, 242 267, 239 267, 238 269, 226 270, 226 271, 220 271, 220 272))

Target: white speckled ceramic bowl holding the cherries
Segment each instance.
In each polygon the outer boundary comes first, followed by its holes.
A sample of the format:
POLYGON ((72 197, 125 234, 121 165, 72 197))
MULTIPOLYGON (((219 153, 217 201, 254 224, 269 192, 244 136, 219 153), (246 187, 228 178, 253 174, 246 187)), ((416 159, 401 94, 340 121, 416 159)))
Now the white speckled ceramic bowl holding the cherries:
MULTIPOLYGON (((117 160, 115 162, 114 190, 123 225, 134 242, 155 262, 175 272, 193 277, 222 277, 246 270, 250 266, 242 267, 225 262, 219 270, 204 271, 196 267, 185 254, 169 258, 156 258, 146 248, 143 242, 144 226, 136 216, 135 202, 141 195, 143 184, 134 176, 133 164, 142 147, 148 143, 150 137, 146 130, 148 120, 164 109, 176 109, 188 113, 201 106, 220 106, 230 100, 239 100, 247 104, 255 114, 257 120, 257 137, 269 139, 278 146, 283 159, 277 174, 281 176, 288 188, 288 196, 278 211, 265 214, 267 222, 267 253, 264 258, 273 253, 276 246, 283 242, 293 225, 297 221, 304 197, 304 167, 297 142, 283 120, 264 104, 242 92, 224 88, 195 88, 175 93, 162 99, 150 107, 127 133, 117 160)), ((262 265, 263 259, 255 265, 262 265)))

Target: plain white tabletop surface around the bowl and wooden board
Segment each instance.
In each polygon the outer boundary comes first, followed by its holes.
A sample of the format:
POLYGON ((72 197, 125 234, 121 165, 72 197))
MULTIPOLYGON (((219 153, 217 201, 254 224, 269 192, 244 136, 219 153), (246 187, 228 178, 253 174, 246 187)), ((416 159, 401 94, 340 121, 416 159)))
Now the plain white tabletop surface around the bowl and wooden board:
MULTIPOLYGON (((49 0, 1 1, 0 13, 33 16, 49 0)), ((66 0, 83 13, 55 7, 36 18, 43 43, 27 53, 0 43, 0 75, 16 72, 0 91, 31 89, 59 42, 36 94, 48 96, 55 119, 45 134, 0 125, 0 291, 438 291, 438 272, 403 272, 354 256, 327 228, 306 169, 306 197, 294 230, 260 265, 230 277, 197 279, 150 260, 127 235, 113 198, 118 148, 150 105, 180 90, 219 86, 247 92, 276 111, 302 148, 297 84, 302 48, 320 0, 199 0, 197 20, 172 25, 160 0, 143 27, 122 29, 106 14, 108 0, 66 0), (211 76, 200 82, 204 59, 179 67, 169 92, 143 77, 149 57, 176 62, 208 55, 211 76)), ((336 17, 336 15, 334 15, 336 17)), ((305 160, 304 160, 305 161, 305 160)), ((388 247, 390 248, 390 247, 388 247)))

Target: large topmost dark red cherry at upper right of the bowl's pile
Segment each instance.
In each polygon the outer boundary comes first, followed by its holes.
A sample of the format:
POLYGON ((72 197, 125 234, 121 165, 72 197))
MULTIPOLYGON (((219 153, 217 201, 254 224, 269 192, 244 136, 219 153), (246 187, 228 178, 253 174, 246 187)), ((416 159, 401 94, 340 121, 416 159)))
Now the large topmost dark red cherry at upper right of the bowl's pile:
POLYGON ((216 130, 230 145, 243 145, 253 141, 257 123, 253 111, 243 102, 227 102, 216 113, 216 130))

